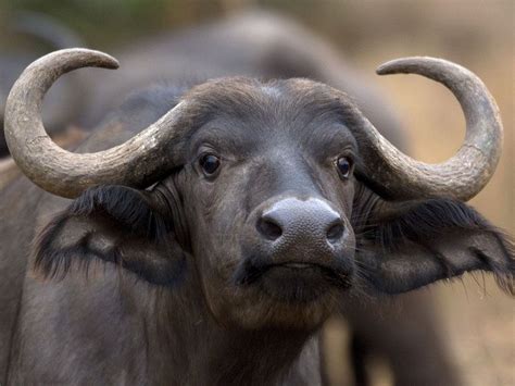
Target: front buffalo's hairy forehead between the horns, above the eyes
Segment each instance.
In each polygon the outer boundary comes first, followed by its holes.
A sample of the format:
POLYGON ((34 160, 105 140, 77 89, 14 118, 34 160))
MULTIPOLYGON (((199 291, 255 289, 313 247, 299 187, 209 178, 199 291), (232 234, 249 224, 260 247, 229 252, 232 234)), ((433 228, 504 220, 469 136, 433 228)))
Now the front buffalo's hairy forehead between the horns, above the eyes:
POLYGON ((224 84, 223 95, 213 86, 212 92, 200 98, 203 125, 192 137, 193 148, 203 141, 238 153, 261 151, 261 146, 291 148, 300 144, 309 148, 335 142, 355 147, 344 119, 352 107, 324 89, 309 87, 316 83, 290 79, 234 85, 224 84))

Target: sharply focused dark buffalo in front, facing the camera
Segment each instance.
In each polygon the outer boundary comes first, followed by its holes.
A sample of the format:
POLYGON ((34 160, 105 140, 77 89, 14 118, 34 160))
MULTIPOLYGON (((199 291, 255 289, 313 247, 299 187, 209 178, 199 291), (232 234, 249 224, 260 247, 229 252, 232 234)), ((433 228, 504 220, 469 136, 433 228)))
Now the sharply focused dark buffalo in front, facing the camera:
POLYGON ((464 203, 502 141, 467 70, 431 58, 378 70, 432 78, 461 102, 465 141, 429 165, 346 94, 300 78, 156 87, 71 153, 40 107, 83 66, 117 63, 54 52, 8 100, 11 153, 54 196, 26 179, 0 196, 7 384, 316 385, 318 329, 342 301, 475 270, 514 292, 512 242, 464 203))

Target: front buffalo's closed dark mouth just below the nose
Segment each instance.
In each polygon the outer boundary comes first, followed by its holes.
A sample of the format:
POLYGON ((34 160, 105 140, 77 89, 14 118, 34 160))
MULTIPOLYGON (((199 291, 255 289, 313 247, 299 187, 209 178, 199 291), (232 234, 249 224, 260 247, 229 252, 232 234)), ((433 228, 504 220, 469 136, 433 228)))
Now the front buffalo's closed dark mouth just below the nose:
POLYGON ((314 301, 331 289, 346 290, 351 287, 351 270, 338 264, 247 259, 238 267, 235 282, 256 286, 275 300, 291 303, 314 301))

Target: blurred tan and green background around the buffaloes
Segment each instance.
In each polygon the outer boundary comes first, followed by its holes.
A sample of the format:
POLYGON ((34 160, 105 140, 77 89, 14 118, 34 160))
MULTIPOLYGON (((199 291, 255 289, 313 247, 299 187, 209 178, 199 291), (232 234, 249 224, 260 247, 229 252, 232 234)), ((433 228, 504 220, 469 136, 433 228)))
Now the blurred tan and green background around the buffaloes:
MULTIPOLYGON (((443 161, 460 146, 465 123, 457 102, 435 83, 417 76, 378 77, 375 67, 393 58, 432 55, 479 75, 501 109, 505 142, 493 179, 472 203, 494 224, 515 234, 513 0, 3 0, 0 57, 21 49, 48 49, 10 30, 13 15, 21 10, 51 15, 88 47, 117 52, 141 37, 180 30, 255 7, 290 17, 336 47, 394 107, 406 127, 410 153, 423 161, 443 161)), ((515 385, 513 300, 481 276, 436 285, 427 291, 437 297, 445 340, 466 384, 515 385)), ((326 334, 334 358, 343 356, 344 324, 332 321, 326 334)), ((330 360, 329 370, 335 384, 344 382, 341 361, 330 360)), ((391 375, 380 364, 375 384, 391 384, 391 375)))

